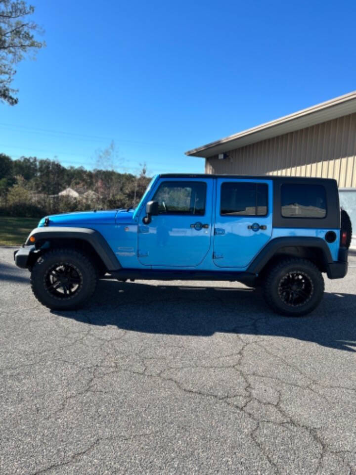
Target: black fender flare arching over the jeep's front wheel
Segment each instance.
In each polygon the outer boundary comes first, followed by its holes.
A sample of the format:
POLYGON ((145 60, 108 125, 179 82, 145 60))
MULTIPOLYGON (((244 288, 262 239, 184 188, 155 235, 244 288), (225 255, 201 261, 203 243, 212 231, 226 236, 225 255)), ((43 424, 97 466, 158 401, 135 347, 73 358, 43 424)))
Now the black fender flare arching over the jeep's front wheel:
POLYGON ((81 239, 87 241, 97 252, 108 271, 121 269, 121 264, 105 238, 96 230, 90 228, 45 227, 35 228, 27 238, 26 245, 50 239, 81 239), (31 241, 30 238, 35 238, 31 241))

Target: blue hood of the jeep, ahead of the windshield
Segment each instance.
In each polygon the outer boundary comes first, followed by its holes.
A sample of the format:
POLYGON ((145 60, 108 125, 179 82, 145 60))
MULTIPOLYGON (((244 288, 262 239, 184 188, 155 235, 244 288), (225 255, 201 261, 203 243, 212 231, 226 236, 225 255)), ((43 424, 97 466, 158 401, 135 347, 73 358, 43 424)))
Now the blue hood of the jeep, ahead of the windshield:
MULTIPOLYGON (((118 210, 109 211, 77 211, 75 213, 52 214, 41 219, 38 227, 45 226, 45 219, 49 219, 48 226, 84 226, 87 224, 115 224, 118 210)), ((124 213, 132 214, 133 213, 124 213)))

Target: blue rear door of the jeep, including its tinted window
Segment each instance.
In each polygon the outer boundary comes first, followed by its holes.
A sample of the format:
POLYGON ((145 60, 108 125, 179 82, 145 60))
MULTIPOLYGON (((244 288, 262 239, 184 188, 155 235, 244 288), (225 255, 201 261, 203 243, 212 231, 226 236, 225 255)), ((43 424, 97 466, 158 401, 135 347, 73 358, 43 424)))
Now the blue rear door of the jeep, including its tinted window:
POLYGON ((217 180, 213 261, 246 268, 272 235, 272 180, 217 180))

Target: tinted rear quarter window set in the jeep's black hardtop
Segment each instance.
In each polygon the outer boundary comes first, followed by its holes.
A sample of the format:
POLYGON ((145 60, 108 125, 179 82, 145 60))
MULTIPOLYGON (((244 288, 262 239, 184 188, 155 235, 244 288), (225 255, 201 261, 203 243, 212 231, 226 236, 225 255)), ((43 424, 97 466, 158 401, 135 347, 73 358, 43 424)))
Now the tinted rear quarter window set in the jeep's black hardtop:
POLYGON ((325 188, 322 185, 283 184, 281 208, 284 218, 325 218, 325 188))

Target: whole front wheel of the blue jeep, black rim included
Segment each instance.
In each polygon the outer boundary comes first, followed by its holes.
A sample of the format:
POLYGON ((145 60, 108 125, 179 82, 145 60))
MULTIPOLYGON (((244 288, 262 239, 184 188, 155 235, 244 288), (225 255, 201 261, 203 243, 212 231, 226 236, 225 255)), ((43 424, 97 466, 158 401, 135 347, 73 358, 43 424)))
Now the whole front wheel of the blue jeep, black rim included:
POLYGON ((72 310, 95 290, 97 272, 88 256, 75 249, 54 249, 42 255, 32 268, 31 287, 46 307, 72 310))

